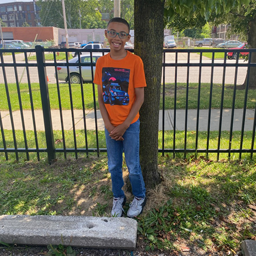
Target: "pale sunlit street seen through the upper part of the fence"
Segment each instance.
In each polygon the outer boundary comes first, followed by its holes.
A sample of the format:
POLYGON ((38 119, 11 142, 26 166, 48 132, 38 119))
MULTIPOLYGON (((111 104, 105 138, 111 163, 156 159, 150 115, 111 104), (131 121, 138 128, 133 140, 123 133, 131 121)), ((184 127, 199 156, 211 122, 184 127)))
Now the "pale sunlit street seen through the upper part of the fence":
MULTIPOLYGON (((16 54, 16 61, 17 63, 24 63, 24 55, 16 54)), ((166 63, 174 63, 175 62, 175 53, 168 52, 166 53, 165 61, 166 63)), ((235 63, 236 60, 234 59, 227 59, 227 63, 235 63)), ((12 56, 5 55, 4 62, 11 63, 12 56)), ((53 61, 47 61, 53 62, 53 61)), ((58 61, 63 62, 63 61, 58 61)), ((187 62, 187 53, 178 53, 178 63, 186 63, 187 62)), ((211 59, 207 57, 202 58, 202 63, 210 63, 211 59)), ((239 63, 243 63, 243 59, 239 59, 239 63)), ((36 63, 35 60, 30 60, 29 63, 36 63)), ((199 54, 190 53, 190 63, 199 63, 199 54)), ((214 63, 223 63, 223 59, 215 59, 214 63)), ((244 82, 246 76, 246 69, 247 67, 238 67, 237 71, 237 85, 242 84, 244 82)), ((6 77, 8 83, 15 83, 15 73, 13 67, 5 67, 6 77)), ((49 79, 49 83, 55 83, 54 77, 54 67, 47 66, 46 67, 47 76, 49 79)), ((27 75, 25 67, 17 67, 18 79, 20 82, 27 82, 27 75), (23 76, 22 76, 22 73, 23 76), (21 79, 22 77, 22 79, 21 79)), ((174 82, 174 74, 175 74, 175 67, 166 67, 165 68, 165 83, 173 83, 174 82)), ((215 66, 213 69, 213 83, 222 83, 222 75, 223 75, 223 67, 222 66, 215 66)), ((234 83, 234 75, 235 75, 235 67, 226 67, 225 73, 225 84, 233 84, 234 83)), ((38 82, 38 74, 37 74, 37 67, 29 67, 29 76, 30 82, 38 82)), ((202 83, 209 83, 211 76, 211 67, 202 67, 201 69, 201 82, 202 83)), ((199 67, 189 67, 189 82, 198 83, 199 78, 199 67)), ((187 80, 187 67, 177 67, 177 82, 186 83, 187 80)), ((3 83, 3 73, 2 69, 0 69, 0 83, 3 83)), ((63 81, 60 81, 63 82, 63 81)))

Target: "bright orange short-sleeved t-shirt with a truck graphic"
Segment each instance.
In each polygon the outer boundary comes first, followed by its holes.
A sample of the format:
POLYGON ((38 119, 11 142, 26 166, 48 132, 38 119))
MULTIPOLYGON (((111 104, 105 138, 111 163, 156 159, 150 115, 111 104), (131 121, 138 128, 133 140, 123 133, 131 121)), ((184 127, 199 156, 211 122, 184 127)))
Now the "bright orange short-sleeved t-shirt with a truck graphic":
MULTIPOLYGON (((146 86, 143 62, 130 51, 120 60, 112 59, 107 53, 97 59, 93 82, 101 85, 109 120, 117 126, 127 118, 136 99, 134 88, 146 86)), ((138 117, 139 113, 131 123, 138 117)))

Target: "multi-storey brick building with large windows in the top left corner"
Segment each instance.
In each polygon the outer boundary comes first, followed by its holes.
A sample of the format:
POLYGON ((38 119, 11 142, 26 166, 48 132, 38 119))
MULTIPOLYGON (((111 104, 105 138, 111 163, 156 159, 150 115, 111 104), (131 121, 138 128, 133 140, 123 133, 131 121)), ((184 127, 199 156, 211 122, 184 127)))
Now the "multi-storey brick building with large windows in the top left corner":
POLYGON ((40 25, 39 7, 35 0, 0 3, 0 18, 8 27, 22 26, 24 22, 30 26, 40 25))

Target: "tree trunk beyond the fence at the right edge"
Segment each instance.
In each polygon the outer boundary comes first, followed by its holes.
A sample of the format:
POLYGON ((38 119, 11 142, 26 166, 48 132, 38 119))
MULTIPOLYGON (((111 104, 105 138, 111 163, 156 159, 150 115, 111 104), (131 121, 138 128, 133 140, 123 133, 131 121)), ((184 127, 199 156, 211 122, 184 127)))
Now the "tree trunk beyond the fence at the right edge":
MULTIPOLYGON (((249 22, 248 29, 248 45, 250 48, 256 48, 256 16, 249 22)), ((256 52, 253 52, 251 55, 251 63, 256 63, 256 52)), ((243 85, 246 85, 248 77, 248 71, 244 80, 243 85)), ((256 67, 250 67, 249 73, 249 88, 256 88, 256 67)))

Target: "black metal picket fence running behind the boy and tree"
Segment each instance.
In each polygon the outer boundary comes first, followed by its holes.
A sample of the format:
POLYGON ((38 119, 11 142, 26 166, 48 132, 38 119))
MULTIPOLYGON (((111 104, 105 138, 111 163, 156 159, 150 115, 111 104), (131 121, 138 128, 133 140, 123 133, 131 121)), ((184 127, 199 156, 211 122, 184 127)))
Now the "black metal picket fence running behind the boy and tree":
MULTIPOLYGON (((93 101, 91 105, 91 109, 93 111, 93 118, 88 120, 88 114, 86 113, 86 98, 84 98, 84 80, 88 80, 88 78, 83 77, 84 69, 87 67, 87 75, 88 71, 90 72, 90 78, 89 80, 92 81, 93 78, 93 70, 95 68, 95 59, 94 59, 94 52, 100 52, 101 54, 104 54, 105 52, 108 52, 108 49, 100 49, 100 50, 83 50, 83 49, 45 49, 41 46, 36 46, 35 49, 22 49, 22 50, 0 50, 0 89, 2 94, 1 101, 5 102, 5 104, 0 105, 0 129, 1 129, 1 140, 0 140, 0 153, 4 154, 5 159, 8 159, 8 155, 10 153, 15 154, 16 160, 19 159, 19 153, 25 153, 25 157, 27 160, 29 160, 29 154, 31 152, 36 153, 37 159, 40 159, 40 153, 46 152, 48 160, 51 161, 56 158, 56 153, 61 153, 66 157, 67 153, 74 153, 75 157, 78 157, 78 153, 82 152, 85 153, 86 156, 88 156, 89 152, 96 152, 97 155, 99 155, 100 152, 105 152, 106 148, 104 146, 102 147, 101 142, 99 142, 99 133, 98 130, 98 122, 99 119, 97 114, 99 114, 97 110, 97 99, 96 99, 96 91, 95 91, 95 85, 90 82, 89 89, 91 90, 91 99, 93 101), (80 54, 78 55, 78 61, 77 62, 70 62, 69 54, 71 51, 75 51, 78 53, 88 52, 87 55, 89 56, 89 61, 81 61, 82 56, 80 54), (57 60, 58 55, 61 53, 64 53, 65 60, 59 61, 57 60), (21 54, 15 54, 15 53, 21 53, 21 54), (10 55, 6 55, 10 54, 10 55), (45 55, 52 56, 52 60, 45 61, 45 55), (31 61, 29 60, 30 55, 36 55, 36 60, 31 61), (19 56, 19 60, 16 60, 17 56, 19 56), (21 56, 21 58, 20 58, 21 56), (73 68, 76 68, 76 78, 79 78, 79 99, 80 99, 80 109, 82 117, 80 118, 81 122, 83 123, 83 128, 81 129, 83 131, 83 143, 82 146, 81 143, 77 143, 77 129, 76 129, 76 116, 75 116, 75 107, 74 103, 77 100, 76 97, 73 95, 73 86, 74 84, 71 84, 70 77, 73 77, 74 71, 71 70, 73 68), (61 68, 66 69, 66 81, 59 81, 60 78, 60 72, 59 70, 61 68), (10 71, 11 70, 11 71, 10 71), (55 78, 53 77, 53 73, 55 73, 55 78), (48 76, 51 76, 51 82, 49 83, 48 76), (24 78, 25 86, 27 86, 27 89, 24 90, 23 88, 20 89, 20 85, 22 84, 22 78, 24 78), (34 83, 39 83, 39 87, 37 88, 34 83), (13 85, 14 83, 14 85, 13 85), (56 121, 55 119, 52 120, 52 109, 51 106, 51 93, 49 93, 49 85, 51 88, 54 87, 56 90, 57 95, 57 104, 58 106, 55 107, 57 111, 59 112, 58 116, 60 119, 59 123, 59 130, 61 132, 61 139, 56 139, 56 135, 54 135, 54 128, 53 124, 56 121), (68 98, 61 95, 62 87, 65 86, 66 90, 68 90, 68 98), (14 88, 14 89, 13 89, 14 88), (36 123, 36 115, 38 110, 38 106, 34 106, 34 91, 39 90, 40 91, 40 101, 41 101, 41 109, 42 109, 42 116, 43 116, 43 131, 38 131, 37 123, 36 123), (15 94, 16 100, 14 100, 15 94), (24 99, 24 95, 28 94, 29 97, 26 97, 24 99), (68 135, 68 139, 72 140, 73 146, 67 145, 67 134, 65 129, 65 113, 63 113, 63 103, 65 101, 69 102, 69 111, 71 114, 71 128, 70 131, 72 132, 72 135, 68 135), (74 101, 75 100, 75 101, 74 101), (15 102, 16 101, 16 102, 15 102), (29 102, 25 102, 29 101, 29 102), (29 103, 29 106, 26 105, 26 109, 29 109, 31 113, 31 121, 32 121, 32 128, 33 131, 33 138, 29 139, 27 141, 27 132, 28 129, 26 128, 26 123, 28 122, 27 118, 24 116, 24 110, 23 105, 25 103, 29 103), (15 106, 14 106, 15 105, 15 106), (15 110, 13 111, 13 107, 15 110), (19 138, 17 139, 17 128, 15 128, 15 117, 13 116, 13 112, 18 112, 18 115, 20 116, 20 130, 22 130, 22 135, 19 133, 19 138), (4 116, 2 116, 4 115, 4 116), (6 128, 4 117, 8 116, 9 120, 9 128, 6 128), (88 129, 88 121, 91 123, 91 121, 94 124, 93 132, 90 133, 90 129, 88 129), (11 136, 8 134, 8 138, 6 138, 6 133, 8 133, 11 130, 11 136), (88 132, 92 134, 94 144, 88 141, 88 132), (41 134, 43 134, 43 140, 45 141, 44 146, 40 146, 41 141, 38 140, 38 137, 41 137, 41 134), (11 137, 11 138, 10 138, 11 137), (71 137, 71 138, 70 138, 71 137), (18 143, 17 140, 20 142, 18 143), (33 147, 31 147, 31 141, 33 140, 32 144, 34 144, 33 147), (59 145, 56 146, 56 142, 60 141, 60 147, 59 145), (20 146, 22 144, 24 146, 20 146), (91 147, 91 145, 94 145, 91 147)), ((133 51, 133 50, 131 50, 133 51)), ((163 51, 163 71, 162 71, 162 106, 161 106, 161 134, 159 137, 159 144, 161 144, 159 148, 159 152, 162 154, 166 152, 172 152, 173 155, 177 153, 183 153, 183 156, 186 157, 187 154, 190 153, 206 153, 206 156, 208 156, 209 153, 215 153, 216 158, 219 159, 220 153, 226 153, 227 157, 230 158, 231 153, 238 153, 239 158, 241 158, 242 153, 249 153, 249 157, 252 158, 253 153, 256 152, 256 148, 254 148, 254 139, 255 139, 255 126, 256 126, 256 92, 255 90, 252 90, 253 96, 250 97, 250 101, 252 101, 253 107, 251 107, 251 104, 249 108, 254 111, 254 116, 251 118, 252 124, 249 128, 251 131, 251 143, 250 147, 244 148, 243 146, 243 140, 244 140, 244 127, 246 122, 246 109, 247 103, 248 103, 248 91, 249 91, 249 81, 248 79, 245 80, 245 87, 243 89, 243 104, 242 104, 242 116, 241 116, 241 129, 239 133, 239 146, 236 148, 232 147, 232 139, 233 139, 233 124, 234 124, 234 112, 237 108, 236 106, 236 93, 237 93, 237 86, 238 84, 241 84, 241 80, 243 81, 245 79, 246 73, 249 74, 250 69, 252 67, 256 67, 256 63, 251 62, 251 55, 256 52, 256 49, 170 49, 170 50, 164 50, 163 51), (234 57, 233 60, 227 60, 227 54, 228 52, 236 53, 236 56, 239 56, 239 53, 242 54, 243 52, 248 52, 247 54, 247 60, 239 59, 238 57, 234 57), (195 54, 197 53, 197 54, 195 54), (204 57, 203 53, 208 53, 210 56, 204 57), (215 54, 222 53, 223 58, 222 59, 216 59, 214 56, 215 54), (197 57, 196 57, 197 56, 197 57), (242 71, 240 71, 240 69, 242 71), (217 70, 217 73, 216 73, 217 70), (205 75, 206 74, 206 75, 205 75), (242 74, 242 75, 239 75, 242 74), (242 77, 240 77, 242 76, 242 77), (239 81, 238 81, 239 80, 239 81), (189 112, 189 91, 190 91, 190 84, 191 82, 196 83, 196 107, 194 108, 194 121, 195 121, 195 127, 191 129, 189 127, 188 123, 188 112, 189 112), (201 147, 199 145, 199 136, 200 136, 200 104, 201 104, 201 88, 203 82, 206 82, 208 91, 207 93, 207 129, 205 130, 206 136, 205 136, 205 146, 201 147), (216 130, 217 135, 217 144, 214 148, 210 148, 210 134, 211 134, 211 114, 212 114, 212 96, 213 96, 213 87, 214 84, 218 83, 219 87, 221 88, 220 93, 218 95, 219 97, 219 107, 218 107, 218 128, 216 130), (224 127, 226 131, 228 131, 228 146, 226 148, 221 148, 221 135, 223 133, 223 111, 224 111, 224 95, 226 93, 225 89, 230 84, 232 84, 232 102, 231 107, 229 109, 230 112, 230 122, 229 122, 229 128, 224 127), (170 88, 171 87, 171 88, 170 88), (171 90, 171 93, 169 92, 169 88, 171 90), (184 107, 183 108, 183 117, 184 117, 184 123, 182 123, 183 128, 182 130, 182 138, 179 138, 179 142, 177 143, 177 117, 178 114, 178 107, 177 103, 180 101, 178 90, 179 89, 185 90, 185 97, 182 99, 184 101, 184 107), (171 94, 171 95, 169 95, 171 94), (166 100, 172 101, 171 107, 166 107, 166 100), (253 103, 254 100, 254 103, 253 103), (166 110, 166 108, 171 108, 171 124, 172 129, 171 131, 166 131, 166 114, 169 114, 168 111, 170 109, 166 110), (189 144, 188 146, 188 134, 192 132, 193 135, 193 142, 192 144, 189 144), (168 137, 168 138, 167 138, 168 137), (169 138, 171 137, 171 139, 169 138), (171 141, 167 141, 171 140, 171 141), (180 142, 182 141, 182 143, 180 142), (183 144, 183 146, 180 146, 180 143, 183 144), (169 146, 166 146, 169 145, 169 146), (170 144, 172 146, 170 146, 170 144)), ((229 58, 232 58, 230 56, 229 58)), ((63 75, 63 74, 61 74, 63 75)), ((75 85, 77 86, 77 85, 75 85)), ((205 93, 205 91, 204 91, 205 93)), ((65 95, 67 95, 65 94, 65 95)), ((37 100, 37 99, 36 99, 37 100)), ((38 102, 37 102, 38 103, 38 102)), ((251 102, 250 102, 251 103, 251 102)), ((38 104, 37 104, 38 105, 38 104)), ((215 107, 215 106, 213 106, 215 107)), ((180 108, 180 107, 179 107, 180 108)), ((16 116, 16 115, 15 115, 16 116)), ((215 120, 216 121, 216 120, 215 120)), ((180 130, 180 129, 179 129, 180 130)), ((20 132, 20 131, 19 131, 20 132)), ((102 133, 102 132, 101 132, 102 133)), ((101 134, 102 135, 102 134, 101 134)), ((91 135, 90 135, 91 136, 91 135)), ((31 136, 29 136, 30 138, 31 136)), ((41 138, 40 138, 41 139, 41 138)))

